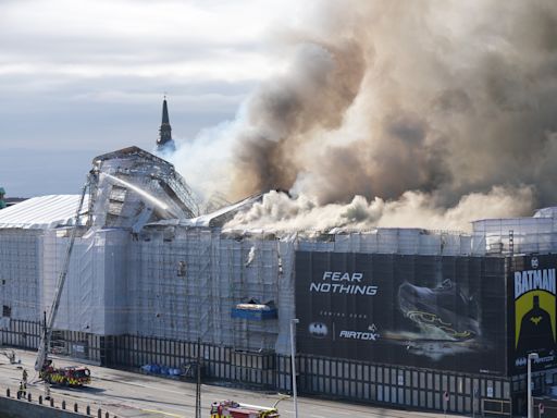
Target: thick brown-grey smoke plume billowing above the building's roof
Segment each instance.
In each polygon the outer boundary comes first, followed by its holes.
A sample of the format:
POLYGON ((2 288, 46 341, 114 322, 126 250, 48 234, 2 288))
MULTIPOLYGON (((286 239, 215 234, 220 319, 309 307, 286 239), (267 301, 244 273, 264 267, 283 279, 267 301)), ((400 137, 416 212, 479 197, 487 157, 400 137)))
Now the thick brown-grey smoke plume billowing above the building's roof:
POLYGON ((231 198, 363 196, 366 222, 399 226, 555 205, 557 2, 315 4, 234 131, 231 198))

